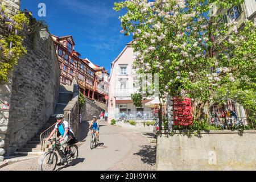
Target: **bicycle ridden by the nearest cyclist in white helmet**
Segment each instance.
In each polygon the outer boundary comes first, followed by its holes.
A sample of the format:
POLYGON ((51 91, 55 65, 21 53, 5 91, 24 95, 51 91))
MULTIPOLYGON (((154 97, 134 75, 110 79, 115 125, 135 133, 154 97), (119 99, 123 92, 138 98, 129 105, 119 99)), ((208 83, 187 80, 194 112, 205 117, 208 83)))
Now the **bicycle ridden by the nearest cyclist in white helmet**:
POLYGON ((61 144, 59 139, 49 139, 49 141, 54 142, 52 145, 52 148, 49 152, 44 154, 42 158, 42 163, 40 165, 41 171, 54 171, 57 166, 57 153, 60 155, 60 164, 65 165, 65 163, 68 164, 68 166, 72 166, 72 163, 75 163, 75 160, 78 158, 79 151, 76 144, 68 145, 69 150, 65 152, 66 154, 63 154, 63 151, 61 150, 61 144), (57 151, 57 153, 56 153, 57 151))

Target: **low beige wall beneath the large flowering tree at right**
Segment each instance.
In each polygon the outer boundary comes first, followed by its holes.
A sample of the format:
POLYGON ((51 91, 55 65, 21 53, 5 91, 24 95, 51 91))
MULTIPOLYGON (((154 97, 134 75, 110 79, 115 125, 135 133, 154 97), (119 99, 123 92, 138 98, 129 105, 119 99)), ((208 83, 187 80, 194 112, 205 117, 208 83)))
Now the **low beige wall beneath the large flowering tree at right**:
POLYGON ((159 133, 156 170, 256 170, 256 131, 210 131, 200 137, 159 133))

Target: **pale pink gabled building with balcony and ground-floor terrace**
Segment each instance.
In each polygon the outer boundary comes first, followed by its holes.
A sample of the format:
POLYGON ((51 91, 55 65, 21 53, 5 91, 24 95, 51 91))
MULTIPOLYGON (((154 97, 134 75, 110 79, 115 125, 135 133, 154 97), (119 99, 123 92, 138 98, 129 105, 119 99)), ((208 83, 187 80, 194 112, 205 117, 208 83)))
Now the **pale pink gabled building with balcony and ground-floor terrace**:
POLYGON ((151 100, 143 101, 143 107, 136 107, 131 100, 131 94, 138 90, 134 85, 133 57, 130 42, 112 63, 109 80, 109 122, 113 118, 146 121, 153 119, 151 108, 145 106, 151 100))

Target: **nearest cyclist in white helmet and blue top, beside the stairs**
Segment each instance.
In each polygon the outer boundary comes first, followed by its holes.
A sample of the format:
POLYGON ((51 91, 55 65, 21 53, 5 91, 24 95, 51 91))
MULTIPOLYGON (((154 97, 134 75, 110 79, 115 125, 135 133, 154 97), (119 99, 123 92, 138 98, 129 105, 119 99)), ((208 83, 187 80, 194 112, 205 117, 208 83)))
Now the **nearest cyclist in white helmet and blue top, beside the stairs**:
POLYGON ((60 144, 61 146, 63 146, 63 154, 65 155, 66 151, 69 151, 68 144, 76 139, 73 131, 69 126, 69 123, 67 121, 64 121, 64 115, 58 114, 56 116, 56 119, 57 123, 55 125, 55 128, 46 140, 49 140, 52 135, 55 134, 56 131, 58 131, 58 134, 60 135, 60 144))

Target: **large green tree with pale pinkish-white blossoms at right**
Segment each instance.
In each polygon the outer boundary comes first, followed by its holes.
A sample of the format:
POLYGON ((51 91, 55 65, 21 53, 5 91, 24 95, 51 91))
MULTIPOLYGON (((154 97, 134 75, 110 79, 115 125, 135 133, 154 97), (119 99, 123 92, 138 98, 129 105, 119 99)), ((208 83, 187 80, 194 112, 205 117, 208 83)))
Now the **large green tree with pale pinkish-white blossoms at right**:
POLYGON ((236 21, 227 24, 221 14, 209 13, 212 5, 228 9, 242 2, 130 0, 115 3, 114 10, 126 9, 121 32, 133 34, 135 71, 159 74, 160 98, 181 95, 200 103, 193 113, 199 118, 205 104, 232 97, 231 88, 255 93, 255 21, 239 30, 236 21))

